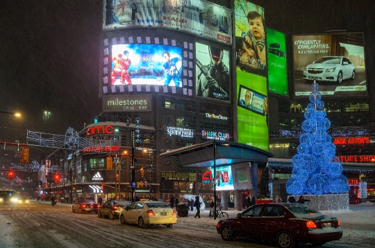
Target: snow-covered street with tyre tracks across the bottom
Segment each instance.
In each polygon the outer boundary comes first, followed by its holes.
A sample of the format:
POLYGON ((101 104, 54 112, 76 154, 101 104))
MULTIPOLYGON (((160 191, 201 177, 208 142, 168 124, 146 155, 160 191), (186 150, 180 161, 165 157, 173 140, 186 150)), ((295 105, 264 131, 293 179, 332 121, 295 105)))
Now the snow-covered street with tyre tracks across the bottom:
MULTIPOLYGON (((229 217, 240 213, 226 212, 229 217)), ((215 228, 218 220, 210 219, 208 213, 195 219, 195 212, 190 211, 188 217, 178 217, 172 229, 140 229, 95 214, 72 213, 68 204, 52 207, 49 202, 31 201, 26 206, 0 206, 0 247, 274 247, 249 240, 222 240, 215 228)), ((351 204, 349 210, 324 213, 339 218, 344 235, 322 247, 374 247, 375 204, 367 201, 351 204)))

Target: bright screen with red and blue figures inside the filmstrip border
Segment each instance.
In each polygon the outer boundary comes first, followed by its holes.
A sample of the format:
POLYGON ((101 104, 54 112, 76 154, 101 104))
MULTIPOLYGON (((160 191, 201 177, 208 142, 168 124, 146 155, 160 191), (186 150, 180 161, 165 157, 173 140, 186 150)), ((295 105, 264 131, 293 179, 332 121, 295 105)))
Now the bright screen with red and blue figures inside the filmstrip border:
POLYGON ((181 47, 156 44, 116 44, 112 47, 112 85, 182 87, 181 47))

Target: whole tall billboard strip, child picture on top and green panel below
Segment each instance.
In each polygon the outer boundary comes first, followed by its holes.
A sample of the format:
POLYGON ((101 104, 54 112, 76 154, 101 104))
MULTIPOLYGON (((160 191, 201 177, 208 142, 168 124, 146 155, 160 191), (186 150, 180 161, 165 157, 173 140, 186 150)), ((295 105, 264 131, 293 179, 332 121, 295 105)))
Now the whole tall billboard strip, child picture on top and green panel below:
POLYGON ((265 31, 264 9, 235 1, 237 142, 268 151, 265 31))

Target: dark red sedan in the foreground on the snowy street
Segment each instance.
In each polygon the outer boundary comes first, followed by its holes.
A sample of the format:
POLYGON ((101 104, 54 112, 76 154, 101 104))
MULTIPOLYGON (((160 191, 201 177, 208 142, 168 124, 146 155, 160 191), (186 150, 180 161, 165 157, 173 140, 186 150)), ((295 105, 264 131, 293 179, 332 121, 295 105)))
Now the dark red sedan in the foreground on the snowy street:
POLYGON ((272 240, 282 248, 299 243, 323 245, 342 237, 337 218, 319 213, 305 204, 290 203, 251 206, 235 218, 220 220, 216 229, 224 240, 235 237, 272 240))

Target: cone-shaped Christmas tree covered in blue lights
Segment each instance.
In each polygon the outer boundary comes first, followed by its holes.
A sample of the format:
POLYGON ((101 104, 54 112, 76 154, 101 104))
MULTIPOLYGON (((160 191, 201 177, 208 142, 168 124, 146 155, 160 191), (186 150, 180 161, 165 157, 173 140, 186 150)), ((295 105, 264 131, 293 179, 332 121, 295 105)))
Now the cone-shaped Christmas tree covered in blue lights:
POLYGON ((342 174, 342 165, 335 156, 336 147, 327 130, 331 122, 326 118, 322 94, 314 80, 311 85, 310 104, 305 112, 306 120, 301 127, 298 154, 293 156, 292 177, 286 189, 292 195, 339 194, 349 191, 347 178, 342 174))

